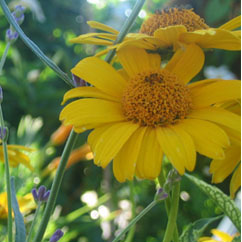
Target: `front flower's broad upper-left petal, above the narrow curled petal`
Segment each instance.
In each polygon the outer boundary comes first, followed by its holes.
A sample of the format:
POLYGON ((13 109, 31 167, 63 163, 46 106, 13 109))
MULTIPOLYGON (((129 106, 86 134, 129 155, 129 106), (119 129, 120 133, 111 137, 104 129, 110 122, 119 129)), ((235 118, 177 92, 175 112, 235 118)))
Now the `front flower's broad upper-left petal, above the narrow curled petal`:
POLYGON ((111 65, 97 57, 81 60, 71 72, 114 97, 121 97, 126 86, 122 76, 111 65))

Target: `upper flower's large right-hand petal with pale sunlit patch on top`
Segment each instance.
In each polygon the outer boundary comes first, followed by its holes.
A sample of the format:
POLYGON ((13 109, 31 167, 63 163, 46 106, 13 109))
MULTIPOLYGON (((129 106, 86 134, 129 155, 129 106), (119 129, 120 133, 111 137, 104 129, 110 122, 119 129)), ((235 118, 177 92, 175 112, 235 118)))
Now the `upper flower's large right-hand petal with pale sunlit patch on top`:
POLYGON ((180 35, 180 41, 186 44, 197 44, 201 48, 240 50, 240 38, 233 32, 224 29, 205 29, 180 35))

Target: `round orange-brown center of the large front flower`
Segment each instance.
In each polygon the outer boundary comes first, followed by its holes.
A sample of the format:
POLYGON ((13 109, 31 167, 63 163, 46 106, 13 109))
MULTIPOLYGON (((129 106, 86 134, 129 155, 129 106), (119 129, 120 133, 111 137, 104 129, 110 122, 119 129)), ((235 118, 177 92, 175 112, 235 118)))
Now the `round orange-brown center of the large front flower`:
POLYGON ((173 124, 190 111, 190 90, 166 70, 143 72, 130 80, 122 107, 128 120, 142 126, 173 124))

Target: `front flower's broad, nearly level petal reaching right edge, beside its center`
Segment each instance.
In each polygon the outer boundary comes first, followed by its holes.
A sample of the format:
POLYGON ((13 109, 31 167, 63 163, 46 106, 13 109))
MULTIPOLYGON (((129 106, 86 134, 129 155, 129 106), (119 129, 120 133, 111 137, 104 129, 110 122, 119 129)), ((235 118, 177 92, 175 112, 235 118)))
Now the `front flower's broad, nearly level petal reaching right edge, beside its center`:
POLYGON ((201 86, 201 88, 191 88, 193 107, 202 108, 215 103, 239 99, 240 88, 241 84, 238 80, 221 80, 201 86))

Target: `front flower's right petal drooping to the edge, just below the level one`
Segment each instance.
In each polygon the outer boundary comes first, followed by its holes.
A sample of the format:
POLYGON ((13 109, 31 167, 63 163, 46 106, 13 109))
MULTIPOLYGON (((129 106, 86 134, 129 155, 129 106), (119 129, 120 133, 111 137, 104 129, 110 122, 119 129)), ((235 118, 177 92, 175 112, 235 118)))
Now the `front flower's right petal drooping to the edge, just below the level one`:
POLYGON ((240 116, 222 108, 208 107, 208 108, 193 110, 188 115, 188 117, 194 118, 194 119, 203 119, 207 121, 212 121, 212 122, 227 126, 231 129, 240 131, 240 126, 241 126, 240 116))

